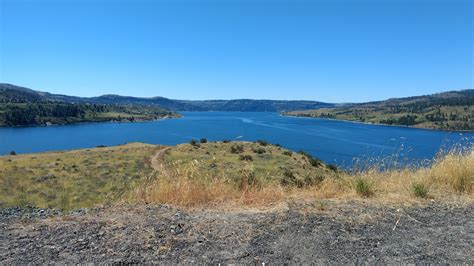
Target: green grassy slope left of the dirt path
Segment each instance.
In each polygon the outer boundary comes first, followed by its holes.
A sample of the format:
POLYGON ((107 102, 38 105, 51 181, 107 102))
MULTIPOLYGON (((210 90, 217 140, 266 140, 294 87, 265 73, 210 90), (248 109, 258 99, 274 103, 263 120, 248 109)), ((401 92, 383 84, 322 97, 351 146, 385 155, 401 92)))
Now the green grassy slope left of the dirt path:
POLYGON ((0 157, 0 207, 91 207, 127 196, 152 173, 158 146, 132 143, 0 157))

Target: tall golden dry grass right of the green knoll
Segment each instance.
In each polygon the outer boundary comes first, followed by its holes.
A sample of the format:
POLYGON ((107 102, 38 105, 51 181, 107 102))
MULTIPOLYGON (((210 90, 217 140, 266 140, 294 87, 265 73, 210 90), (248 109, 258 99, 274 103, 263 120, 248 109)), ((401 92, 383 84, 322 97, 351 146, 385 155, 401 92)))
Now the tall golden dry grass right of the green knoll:
POLYGON ((439 156, 431 166, 381 171, 377 167, 359 173, 344 173, 339 179, 326 179, 315 188, 317 195, 326 197, 353 197, 357 195, 355 180, 373 184, 373 196, 389 201, 411 201, 413 184, 422 184, 430 198, 446 199, 474 196, 474 150, 449 152, 439 156))

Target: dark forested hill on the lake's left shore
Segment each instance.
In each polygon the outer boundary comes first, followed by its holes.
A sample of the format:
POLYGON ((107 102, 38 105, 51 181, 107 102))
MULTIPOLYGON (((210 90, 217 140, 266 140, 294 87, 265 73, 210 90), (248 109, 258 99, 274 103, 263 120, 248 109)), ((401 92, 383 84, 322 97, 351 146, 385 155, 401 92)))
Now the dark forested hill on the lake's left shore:
POLYGON ((0 126, 143 121, 177 116, 158 106, 94 104, 56 100, 51 94, 0 85, 0 126))

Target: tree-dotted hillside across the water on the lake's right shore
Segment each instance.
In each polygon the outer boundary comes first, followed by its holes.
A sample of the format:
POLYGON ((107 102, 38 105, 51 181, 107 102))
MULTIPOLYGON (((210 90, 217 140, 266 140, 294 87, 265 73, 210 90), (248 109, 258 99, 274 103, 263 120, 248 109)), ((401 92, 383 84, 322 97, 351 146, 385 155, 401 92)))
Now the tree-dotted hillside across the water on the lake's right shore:
POLYGON ((347 104, 336 108, 285 112, 285 115, 332 118, 441 130, 474 130, 474 90, 347 104))

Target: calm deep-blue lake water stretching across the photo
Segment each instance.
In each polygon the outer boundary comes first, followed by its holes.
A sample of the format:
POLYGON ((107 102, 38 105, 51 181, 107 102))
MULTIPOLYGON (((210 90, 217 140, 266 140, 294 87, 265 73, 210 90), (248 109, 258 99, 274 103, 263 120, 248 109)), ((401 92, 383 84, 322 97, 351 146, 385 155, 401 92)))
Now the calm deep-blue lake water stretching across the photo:
POLYGON ((201 137, 210 141, 265 139, 348 167, 353 158, 394 154, 407 161, 432 159, 443 145, 460 141, 468 145, 474 139, 474 133, 282 117, 276 113, 184 112, 183 115, 180 119, 144 123, 0 128, 0 154, 12 150, 30 153, 133 141, 174 145, 201 137))

